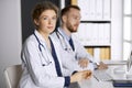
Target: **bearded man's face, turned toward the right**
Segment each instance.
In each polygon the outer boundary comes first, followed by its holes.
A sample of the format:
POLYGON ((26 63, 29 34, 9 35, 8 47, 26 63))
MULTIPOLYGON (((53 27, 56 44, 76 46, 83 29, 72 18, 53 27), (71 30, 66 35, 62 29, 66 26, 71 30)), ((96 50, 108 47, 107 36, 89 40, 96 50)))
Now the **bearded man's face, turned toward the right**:
POLYGON ((79 23, 80 23, 80 11, 77 9, 70 9, 70 11, 67 13, 66 28, 70 32, 77 32, 79 23))

